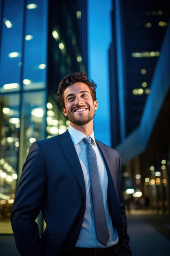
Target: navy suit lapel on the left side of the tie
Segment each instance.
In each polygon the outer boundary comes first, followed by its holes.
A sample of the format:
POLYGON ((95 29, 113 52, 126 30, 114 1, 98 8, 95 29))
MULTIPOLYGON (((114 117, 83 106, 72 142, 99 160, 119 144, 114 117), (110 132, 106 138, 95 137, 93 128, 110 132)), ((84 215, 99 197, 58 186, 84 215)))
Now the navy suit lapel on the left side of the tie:
POLYGON ((68 164, 71 167, 71 170, 73 171, 80 188, 82 189, 84 198, 86 198, 86 188, 84 183, 84 176, 82 171, 82 166, 79 162, 79 158, 77 155, 77 152, 75 150, 73 141, 71 139, 71 136, 66 130, 62 135, 57 136, 58 137, 58 143, 68 161, 68 164))

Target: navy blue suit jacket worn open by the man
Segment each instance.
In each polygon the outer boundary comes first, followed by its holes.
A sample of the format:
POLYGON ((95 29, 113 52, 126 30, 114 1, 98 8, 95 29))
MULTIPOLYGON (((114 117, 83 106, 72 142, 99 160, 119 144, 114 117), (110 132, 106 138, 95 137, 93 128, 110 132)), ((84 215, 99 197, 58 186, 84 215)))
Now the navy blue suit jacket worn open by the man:
MULTIPOLYGON (((113 148, 96 143, 107 168, 108 206, 118 231, 119 245, 131 254, 120 156, 113 148)), ((11 213, 20 254, 65 256, 77 242, 85 207, 83 171, 69 132, 34 142, 23 166, 11 213), (40 211, 46 222, 41 238, 35 222, 40 211)))

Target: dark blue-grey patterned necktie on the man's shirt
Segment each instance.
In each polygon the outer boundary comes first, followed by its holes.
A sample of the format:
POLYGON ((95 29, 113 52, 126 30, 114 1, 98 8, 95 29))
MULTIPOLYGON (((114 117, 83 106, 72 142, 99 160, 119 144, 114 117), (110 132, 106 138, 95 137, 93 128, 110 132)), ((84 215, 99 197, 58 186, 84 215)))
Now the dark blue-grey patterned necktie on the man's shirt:
POLYGON ((95 150, 91 144, 91 138, 85 137, 84 142, 87 147, 87 160, 88 160, 88 168, 90 174, 90 182, 91 182, 91 195, 93 200, 93 210, 95 216, 95 229, 97 240, 103 245, 107 245, 109 232, 108 226, 106 222, 106 214, 104 211, 104 204, 102 199, 102 189, 100 186, 99 173, 97 168, 97 158, 95 154, 95 150))

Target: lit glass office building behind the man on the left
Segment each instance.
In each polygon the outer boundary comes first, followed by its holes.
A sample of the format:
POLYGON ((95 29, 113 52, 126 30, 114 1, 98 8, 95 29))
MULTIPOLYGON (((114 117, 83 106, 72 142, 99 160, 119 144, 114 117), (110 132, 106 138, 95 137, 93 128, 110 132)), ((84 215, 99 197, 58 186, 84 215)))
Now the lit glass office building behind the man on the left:
POLYGON ((67 74, 87 71, 86 2, 0 0, 0 233, 11 234, 15 189, 30 145, 63 133, 57 99, 67 74))

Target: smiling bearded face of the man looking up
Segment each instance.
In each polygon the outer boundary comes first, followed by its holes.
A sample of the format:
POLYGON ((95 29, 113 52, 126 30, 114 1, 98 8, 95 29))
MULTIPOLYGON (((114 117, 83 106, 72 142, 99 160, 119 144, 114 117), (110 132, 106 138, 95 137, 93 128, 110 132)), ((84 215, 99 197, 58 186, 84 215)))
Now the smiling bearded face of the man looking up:
POLYGON ((65 108, 62 110, 71 123, 84 125, 93 119, 98 104, 93 101, 88 85, 82 82, 69 85, 63 96, 65 108))

